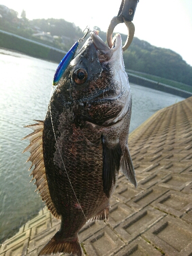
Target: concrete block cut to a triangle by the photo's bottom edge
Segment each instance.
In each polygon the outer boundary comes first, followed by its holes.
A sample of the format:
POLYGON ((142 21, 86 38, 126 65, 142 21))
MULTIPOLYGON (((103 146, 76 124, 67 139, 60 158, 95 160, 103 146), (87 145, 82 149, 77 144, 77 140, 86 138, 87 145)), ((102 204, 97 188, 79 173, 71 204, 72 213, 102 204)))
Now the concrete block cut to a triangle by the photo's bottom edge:
POLYGON ((117 254, 118 256, 162 256, 151 244, 147 243, 141 236, 131 244, 123 247, 117 254))

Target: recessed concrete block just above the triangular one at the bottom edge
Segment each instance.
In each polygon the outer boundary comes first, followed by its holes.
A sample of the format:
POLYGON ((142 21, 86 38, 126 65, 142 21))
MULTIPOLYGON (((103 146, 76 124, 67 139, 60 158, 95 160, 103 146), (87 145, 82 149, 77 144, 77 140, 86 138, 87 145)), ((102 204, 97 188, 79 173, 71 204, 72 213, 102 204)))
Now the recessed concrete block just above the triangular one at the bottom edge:
POLYGON ((165 213, 152 207, 146 207, 131 218, 124 220, 115 228, 115 231, 122 237, 123 241, 131 243, 156 222, 166 216, 165 213))

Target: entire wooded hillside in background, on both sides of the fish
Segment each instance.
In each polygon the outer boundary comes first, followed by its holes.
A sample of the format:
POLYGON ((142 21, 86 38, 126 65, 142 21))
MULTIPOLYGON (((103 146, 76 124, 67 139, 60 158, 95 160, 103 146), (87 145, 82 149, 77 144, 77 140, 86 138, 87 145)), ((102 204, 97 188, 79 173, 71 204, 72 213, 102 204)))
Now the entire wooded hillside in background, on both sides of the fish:
MULTIPOLYGON (((23 11, 18 13, 0 5, 0 29, 49 46, 68 51, 72 44, 82 37, 82 30, 64 19, 36 19, 29 21, 23 11)), ((97 27, 95 27, 97 28, 97 27)), ((99 28, 97 28, 100 30, 99 28)), ((99 36, 106 42, 106 33, 99 36)), ((121 35, 122 41, 126 35, 121 35)), ((158 48, 148 42, 133 38, 131 46, 124 52, 126 69, 192 85, 192 66, 182 60, 181 56, 170 49, 158 48)))

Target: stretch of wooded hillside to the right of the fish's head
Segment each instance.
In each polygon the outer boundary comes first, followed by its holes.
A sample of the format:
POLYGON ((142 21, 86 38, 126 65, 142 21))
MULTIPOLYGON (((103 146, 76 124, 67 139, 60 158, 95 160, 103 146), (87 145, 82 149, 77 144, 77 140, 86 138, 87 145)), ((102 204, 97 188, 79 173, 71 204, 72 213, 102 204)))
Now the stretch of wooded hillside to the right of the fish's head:
POLYGON ((124 62, 128 69, 192 85, 192 67, 179 54, 157 48, 136 37, 124 52, 124 62))

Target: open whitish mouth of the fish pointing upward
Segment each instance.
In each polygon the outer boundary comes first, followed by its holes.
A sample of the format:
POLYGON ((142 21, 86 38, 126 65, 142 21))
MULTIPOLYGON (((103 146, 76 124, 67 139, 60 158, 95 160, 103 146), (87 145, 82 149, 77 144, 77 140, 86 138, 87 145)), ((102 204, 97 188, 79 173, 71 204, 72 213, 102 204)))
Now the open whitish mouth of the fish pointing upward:
POLYGON ((122 51, 122 41, 120 34, 116 34, 115 37, 113 37, 113 47, 111 49, 108 48, 108 46, 104 43, 101 37, 98 36, 98 30, 94 30, 93 32, 91 32, 90 36, 95 46, 98 59, 101 63, 109 62, 112 59, 114 52, 120 50, 122 51))

